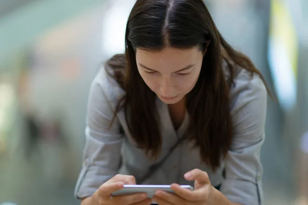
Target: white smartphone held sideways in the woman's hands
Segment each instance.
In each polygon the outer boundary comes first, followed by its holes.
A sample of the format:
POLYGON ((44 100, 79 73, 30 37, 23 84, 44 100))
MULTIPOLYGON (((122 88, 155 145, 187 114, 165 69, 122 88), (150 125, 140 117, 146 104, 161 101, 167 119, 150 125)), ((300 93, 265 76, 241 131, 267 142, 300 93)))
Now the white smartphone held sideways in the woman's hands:
MULTIPOLYGON (((181 185, 182 188, 194 190, 189 185, 181 185)), ((112 196, 126 195, 126 194, 136 194, 136 193, 147 193, 148 198, 152 198, 157 190, 162 190, 169 193, 174 193, 170 185, 124 185, 124 188, 113 192, 112 196)))

